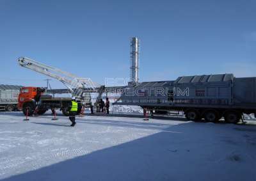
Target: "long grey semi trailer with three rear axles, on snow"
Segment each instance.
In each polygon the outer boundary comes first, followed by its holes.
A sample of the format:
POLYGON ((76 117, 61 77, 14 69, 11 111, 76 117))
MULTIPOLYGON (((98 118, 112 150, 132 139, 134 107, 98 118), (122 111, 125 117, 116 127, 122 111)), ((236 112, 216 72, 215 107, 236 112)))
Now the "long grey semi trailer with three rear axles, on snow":
POLYGON ((124 88, 114 105, 140 106, 151 113, 184 111, 188 120, 237 123, 256 113, 256 77, 194 75, 175 81, 136 83, 124 88))

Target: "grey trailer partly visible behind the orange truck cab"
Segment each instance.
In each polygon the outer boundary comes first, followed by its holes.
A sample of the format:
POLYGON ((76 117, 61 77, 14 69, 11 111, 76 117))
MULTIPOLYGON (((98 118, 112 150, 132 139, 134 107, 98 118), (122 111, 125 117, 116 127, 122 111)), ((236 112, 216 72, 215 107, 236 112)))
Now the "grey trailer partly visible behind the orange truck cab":
POLYGON ((15 111, 22 86, 0 85, 0 111, 15 111))

